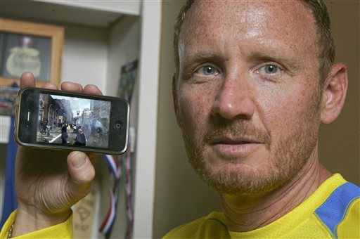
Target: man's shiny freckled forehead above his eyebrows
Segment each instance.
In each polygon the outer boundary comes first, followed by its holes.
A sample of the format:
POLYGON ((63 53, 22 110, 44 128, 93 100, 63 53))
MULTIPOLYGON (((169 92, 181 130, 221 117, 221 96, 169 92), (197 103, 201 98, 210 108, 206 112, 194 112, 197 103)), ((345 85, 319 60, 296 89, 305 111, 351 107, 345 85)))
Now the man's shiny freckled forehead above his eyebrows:
POLYGON ((297 54, 304 49, 317 52, 316 41, 314 18, 301 1, 198 0, 181 27, 178 47, 180 56, 214 47, 224 52, 221 42, 224 47, 232 44, 231 51, 262 45, 293 48, 289 53, 297 54))

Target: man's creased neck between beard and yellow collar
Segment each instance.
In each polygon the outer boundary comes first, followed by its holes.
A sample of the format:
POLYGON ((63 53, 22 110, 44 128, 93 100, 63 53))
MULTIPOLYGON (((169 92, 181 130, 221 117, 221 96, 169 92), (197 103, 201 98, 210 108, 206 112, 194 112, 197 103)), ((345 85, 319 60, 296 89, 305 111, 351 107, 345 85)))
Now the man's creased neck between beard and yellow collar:
POLYGON ((271 193, 221 195, 229 230, 252 231, 270 224, 304 202, 330 176, 316 157, 301 174, 271 193))

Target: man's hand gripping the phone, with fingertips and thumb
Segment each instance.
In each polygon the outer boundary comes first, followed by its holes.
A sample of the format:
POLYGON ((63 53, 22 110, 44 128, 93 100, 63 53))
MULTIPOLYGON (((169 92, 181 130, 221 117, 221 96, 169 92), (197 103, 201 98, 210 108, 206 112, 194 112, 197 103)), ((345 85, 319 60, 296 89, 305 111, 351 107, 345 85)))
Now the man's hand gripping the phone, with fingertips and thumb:
MULTIPOLYGON (((35 86, 34 76, 27 72, 20 78, 20 87, 30 86, 35 86)), ((58 89, 51 83, 43 87, 58 89)), ((101 94, 94 85, 83 88, 71 82, 61 84, 61 89, 101 94)), ((70 207, 89 193, 94 176, 94 167, 85 153, 19 146, 15 177, 18 214, 13 236, 65 221, 70 215, 70 207)))

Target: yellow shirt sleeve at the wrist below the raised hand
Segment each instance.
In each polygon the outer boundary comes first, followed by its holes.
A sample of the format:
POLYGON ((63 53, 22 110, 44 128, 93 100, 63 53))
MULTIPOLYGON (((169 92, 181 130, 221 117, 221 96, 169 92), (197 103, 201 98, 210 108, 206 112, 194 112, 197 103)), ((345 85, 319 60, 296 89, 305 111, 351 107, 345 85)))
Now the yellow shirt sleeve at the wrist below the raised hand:
MULTIPOLYGON (((8 231, 11 225, 14 223, 16 218, 17 210, 11 213, 10 217, 6 220, 3 228, 1 228, 0 238, 7 238, 8 231)), ((25 235, 20 235, 15 237, 18 239, 39 239, 39 238, 73 238, 72 235, 72 213, 70 217, 66 219, 66 221, 56 224, 54 226, 49 226, 47 228, 43 228, 39 231, 33 231, 32 233, 27 233, 25 235)))

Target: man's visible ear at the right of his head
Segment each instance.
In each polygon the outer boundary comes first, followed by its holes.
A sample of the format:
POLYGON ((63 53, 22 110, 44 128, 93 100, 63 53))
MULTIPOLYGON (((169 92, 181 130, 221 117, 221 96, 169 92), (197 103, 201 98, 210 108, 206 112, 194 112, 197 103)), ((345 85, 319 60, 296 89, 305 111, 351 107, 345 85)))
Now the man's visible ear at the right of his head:
POLYGON ((321 122, 330 124, 342 110, 347 92, 347 67, 338 63, 331 67, 330 74, 323 85, 321 122))

